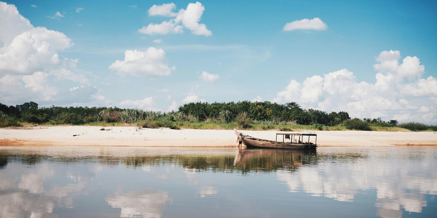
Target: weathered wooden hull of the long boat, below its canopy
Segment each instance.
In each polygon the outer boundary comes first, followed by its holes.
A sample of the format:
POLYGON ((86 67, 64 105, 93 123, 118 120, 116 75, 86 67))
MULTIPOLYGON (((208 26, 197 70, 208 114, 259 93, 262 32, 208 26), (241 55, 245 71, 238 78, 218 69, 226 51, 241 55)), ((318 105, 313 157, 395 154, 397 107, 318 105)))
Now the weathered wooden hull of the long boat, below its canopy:
POLYGON ((243 138, 243 144, 247 147, 259 147, 259 148, 280 148, 280 149, 296 149, 296 150, 316 150, 315 144, 294 144, 294 143, 279 143, 272 142, 270 140, 262 140, 257 138, 245 139, 243 138))

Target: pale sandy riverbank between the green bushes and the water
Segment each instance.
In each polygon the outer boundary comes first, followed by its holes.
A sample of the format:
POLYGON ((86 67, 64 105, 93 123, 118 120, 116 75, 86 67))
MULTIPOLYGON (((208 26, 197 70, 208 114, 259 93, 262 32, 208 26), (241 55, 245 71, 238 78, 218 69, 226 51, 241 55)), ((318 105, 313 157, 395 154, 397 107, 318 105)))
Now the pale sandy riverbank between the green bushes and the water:
MULTIPOLYGON (((93 146, 236 146, 233 130, 138 129, 135 127, 37 126, 0 129, 0 145, 93 145, 93 146), (79 136, 73 136, 79 135, 79 136)), ((241 131, 257 138, 275 140, 278 131, 241 131)), ((312 131, 319 146, 437 145, 431 132, 312 131)), ((279 136, 280 137, 280 136, 279 136)), ((282 140, 279 139, 278 140, 282 140)), ((313 142, 313 141, 312 141, 313 142)))

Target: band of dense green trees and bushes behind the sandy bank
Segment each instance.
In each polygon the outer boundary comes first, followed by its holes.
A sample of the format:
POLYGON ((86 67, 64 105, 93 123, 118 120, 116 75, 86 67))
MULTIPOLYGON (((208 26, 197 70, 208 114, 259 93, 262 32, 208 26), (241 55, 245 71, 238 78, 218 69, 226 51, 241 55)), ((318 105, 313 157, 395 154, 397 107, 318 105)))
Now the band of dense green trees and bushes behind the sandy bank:
MULTIPOLYGON (((146 128, 180 128, 180 123, 222 123, 226 128, 248 129, 255 124, 261 129, 289 129, 290 125, 307 125, 324 130, 328 126, 347 129, 371 130, 375 127, 401 127, 412 131, 436 130, 437 126, 423 123, 401 123, 397 120, 350 119, 347 112, 324 112, 302 109, 297 103, 272 102, 197 102, 179 107, 178 111, 154 112, 141 109, 107 107, 38 107, 35 102, 6 106, 0 103, 0 127, 20 126, 20 123, 45 125, 78 125, 86 123, 135 123, 146 128), (229 125, 228 125, 229 124, 229 125)), ((336 128, 338 130, 338 128, 336 128)))

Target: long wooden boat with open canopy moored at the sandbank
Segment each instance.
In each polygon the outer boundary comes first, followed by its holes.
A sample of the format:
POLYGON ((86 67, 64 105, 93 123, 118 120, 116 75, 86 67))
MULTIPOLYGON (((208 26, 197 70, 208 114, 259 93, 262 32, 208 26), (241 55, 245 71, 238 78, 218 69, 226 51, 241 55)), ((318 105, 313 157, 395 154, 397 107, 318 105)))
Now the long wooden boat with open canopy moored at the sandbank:
MULTIPOLYGON (((238 136, 240 132, 234 129, 235 134, 238 136)), ((315 150, 317 148, 317 134, 304 134, 304 133, 276 133, 276 141, 259 139, 252 136, 248 136, 243 133, 243 144, 247 147, 260 147, 260 148, 283 148, 283 149, 299 149, 299 150, 315 150), (282 142, 277 141, 277 136, 282 136, 282 142), (304 136, 308 136, 308 141, 304 140, 304 136), (310 136, 316 136, 315 143, 309 142, 310 136), (299 137, 297 139, 296 137, 299 137), (302 139, 301 139, 302 137, 302 139), (293 141, 294 138, 294 141, 293 141), (290 142, 288 142, 288 139, 290 142), (287 142, 285 141, 287 140, 287 142), (302 141, 301 141, 302 140, 302 141)))

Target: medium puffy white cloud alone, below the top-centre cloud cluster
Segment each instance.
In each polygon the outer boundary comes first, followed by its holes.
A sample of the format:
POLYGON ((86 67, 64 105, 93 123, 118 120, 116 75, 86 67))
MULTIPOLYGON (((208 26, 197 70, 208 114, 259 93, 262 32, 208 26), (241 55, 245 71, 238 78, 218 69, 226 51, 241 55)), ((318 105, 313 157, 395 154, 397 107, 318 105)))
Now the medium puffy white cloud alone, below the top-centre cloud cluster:
POLYGON ((169 67, 165 51, 149 47, 146 51, 127 50, 124 61, 115 61, 109 69, 133 76, 168 76, 176 67, 169 67))

